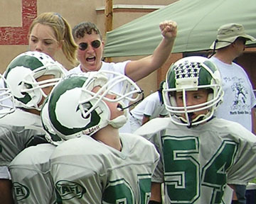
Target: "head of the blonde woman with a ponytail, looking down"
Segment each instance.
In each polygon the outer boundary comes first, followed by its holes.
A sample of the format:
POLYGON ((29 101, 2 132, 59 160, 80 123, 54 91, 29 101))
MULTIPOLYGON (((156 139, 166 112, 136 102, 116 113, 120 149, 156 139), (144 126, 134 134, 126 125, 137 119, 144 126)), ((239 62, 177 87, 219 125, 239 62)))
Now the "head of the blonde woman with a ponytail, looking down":
POLYGON ((41 13, 34 19, 28 32, 28 47, 31 51, 44 52, 53 59, 62 50, 66 59, 76 65, 76 45, 68 21, 58 13, 41 13))

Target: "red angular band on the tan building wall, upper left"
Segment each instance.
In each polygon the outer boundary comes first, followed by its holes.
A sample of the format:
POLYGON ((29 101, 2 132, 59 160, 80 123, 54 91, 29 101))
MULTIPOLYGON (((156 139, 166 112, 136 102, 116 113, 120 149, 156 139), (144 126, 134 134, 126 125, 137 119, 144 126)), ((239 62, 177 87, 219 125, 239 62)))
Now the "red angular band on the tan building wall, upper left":
POLYGON ((37 16, 37 0, 21 0, 22 26, 0 27, 0 45, 28 45, 28 28, 37 16))

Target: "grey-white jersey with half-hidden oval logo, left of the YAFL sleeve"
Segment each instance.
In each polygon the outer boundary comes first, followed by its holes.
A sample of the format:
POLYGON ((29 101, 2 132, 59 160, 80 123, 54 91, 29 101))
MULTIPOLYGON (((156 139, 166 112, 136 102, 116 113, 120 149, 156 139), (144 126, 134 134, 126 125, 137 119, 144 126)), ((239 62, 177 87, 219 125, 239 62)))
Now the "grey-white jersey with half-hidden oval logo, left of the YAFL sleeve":
POLYGON ((54 149, 55 146, 51 144, 28 147, 11 162, 9 171, 16 203, 55 203, 49 163, 50 155, 54 149))

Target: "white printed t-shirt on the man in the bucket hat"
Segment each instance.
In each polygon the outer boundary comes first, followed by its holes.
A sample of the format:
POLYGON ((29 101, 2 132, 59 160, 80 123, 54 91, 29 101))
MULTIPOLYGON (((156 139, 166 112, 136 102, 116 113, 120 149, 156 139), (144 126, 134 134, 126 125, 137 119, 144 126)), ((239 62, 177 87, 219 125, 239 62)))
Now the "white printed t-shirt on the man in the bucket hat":
POLYGON ((238 64, 225 64, 216 57, 211 57, 222 77, 224 91, 223 103, 215 111, 217 118, 232 120, 252 131, 251 110, 256 105, 250 79, 238 64))

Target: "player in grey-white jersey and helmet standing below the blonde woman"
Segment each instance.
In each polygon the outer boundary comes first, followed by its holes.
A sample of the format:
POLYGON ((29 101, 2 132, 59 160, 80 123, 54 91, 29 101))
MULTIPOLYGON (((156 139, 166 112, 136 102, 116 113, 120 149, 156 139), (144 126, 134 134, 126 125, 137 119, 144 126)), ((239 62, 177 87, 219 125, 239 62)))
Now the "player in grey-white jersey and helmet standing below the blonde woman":
POLYGON ((4 77, 14 96, 16 111, 0 119, 0 169, 4 169, 0 178, 1 203, 11 202, 11 178, 6 166, 26 147, 46 142, 33 127, 43 130, 40 118, 43 100, 63 76, 63 67, 36 51, 18 55, 6 69, 4 77))

